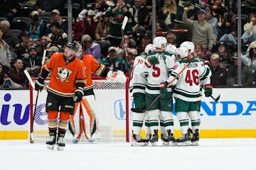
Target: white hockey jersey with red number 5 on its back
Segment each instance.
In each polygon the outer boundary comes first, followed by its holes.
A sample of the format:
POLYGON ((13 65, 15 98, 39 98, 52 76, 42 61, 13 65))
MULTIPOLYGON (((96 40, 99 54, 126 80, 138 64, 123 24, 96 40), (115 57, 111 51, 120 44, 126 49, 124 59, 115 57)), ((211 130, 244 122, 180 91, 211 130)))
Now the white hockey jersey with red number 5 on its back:
MULTIPOLYGON (((164 83, 171 74, 175 64, 175 55, 169 52, 153 52, 146 60, 150 57, 157 57, 159 63, 146 69, 146 93, 160 94, 159 84, 164 83)), ((171 91, 171 88, 167 90, 171 91)))

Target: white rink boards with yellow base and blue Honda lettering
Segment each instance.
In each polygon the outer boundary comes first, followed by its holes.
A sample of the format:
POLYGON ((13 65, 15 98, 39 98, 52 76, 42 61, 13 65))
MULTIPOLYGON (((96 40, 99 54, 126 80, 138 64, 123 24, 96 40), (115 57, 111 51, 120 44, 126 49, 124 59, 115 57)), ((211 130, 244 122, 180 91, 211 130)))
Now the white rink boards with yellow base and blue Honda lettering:
MULTIPOLYGON (((256 89, 213 89, 213 96, 220 94, 218 102, 202 98, 201 137, 256 137, 256 89)), ((35 130, 47 132, 47 115, 44 111, 46 93, 38 100, 35 130)), ((34 98, 36 93, 34 93, 34 98)), ((119 90, 95 89, 97 112, 102 128, 110 128, 114 135, 125 134, 125 94, 119 90)), ((132 99, 129 106, 133 107, 132 99)), ((34 102, 35 103, 35 102, 34 102)), ((175 104, 175 103, 174 103, 175 104)), ((0 139, 27 139, 29 129, 29 91, 0 90, 0 139)), ((130 127, 132 115, 129 113, 130 127)), ((175 135, 179 131, 174 113, 175 135)), ((144 132, 142 132, 142 136, 144 132)))

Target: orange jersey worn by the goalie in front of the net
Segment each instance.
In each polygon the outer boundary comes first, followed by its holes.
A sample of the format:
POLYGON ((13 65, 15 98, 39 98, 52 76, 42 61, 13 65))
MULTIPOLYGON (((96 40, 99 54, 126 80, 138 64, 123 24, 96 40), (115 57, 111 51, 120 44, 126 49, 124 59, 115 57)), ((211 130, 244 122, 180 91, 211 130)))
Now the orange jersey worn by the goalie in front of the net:
POLYGON ((85 89, 92 88, 92 74, 100 77, 107 77, 109 69, 104 64, 100 64, 92 55, 82 55, 82 62, 85 64, 86 85, 85 89))

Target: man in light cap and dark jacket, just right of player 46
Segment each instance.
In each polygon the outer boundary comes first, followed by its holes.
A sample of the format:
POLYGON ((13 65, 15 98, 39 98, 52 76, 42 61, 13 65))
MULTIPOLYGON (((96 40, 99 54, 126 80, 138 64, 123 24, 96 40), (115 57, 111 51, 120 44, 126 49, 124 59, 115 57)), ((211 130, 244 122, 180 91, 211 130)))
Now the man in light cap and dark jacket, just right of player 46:
POLYGON ((220 67, 220 56, 218 54, 210 56, 210 71, 212 72, 210 84, 213 86, 227 85, 228 69, 220 67))

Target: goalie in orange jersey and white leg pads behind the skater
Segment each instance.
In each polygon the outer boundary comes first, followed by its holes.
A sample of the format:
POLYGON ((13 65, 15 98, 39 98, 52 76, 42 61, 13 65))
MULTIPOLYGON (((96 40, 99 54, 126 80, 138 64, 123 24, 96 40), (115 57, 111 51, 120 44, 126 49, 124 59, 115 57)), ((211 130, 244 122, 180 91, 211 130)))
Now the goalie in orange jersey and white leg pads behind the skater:
MULTIPOLYGON (((78 43, 80 50, 77 52, 77 57, 82 60, 86 67, 86 85, 83 90, 84 96, 80 103, 75 104, 74 114, 71 115, 70 128, 73 133, 73 143, 78 143, 82 132, 85 133, 85 138, 89 142, 100 140, 100 127, 98 115, 96 111, 95 95, 92 86, 92 74, 100 77, 109 77, 112 71, 104 64, 100 64, 92 55, 83 55, 84 48, 82 43, 78 43)), ((118 77, 115 78, 119 79, 118 77)))

